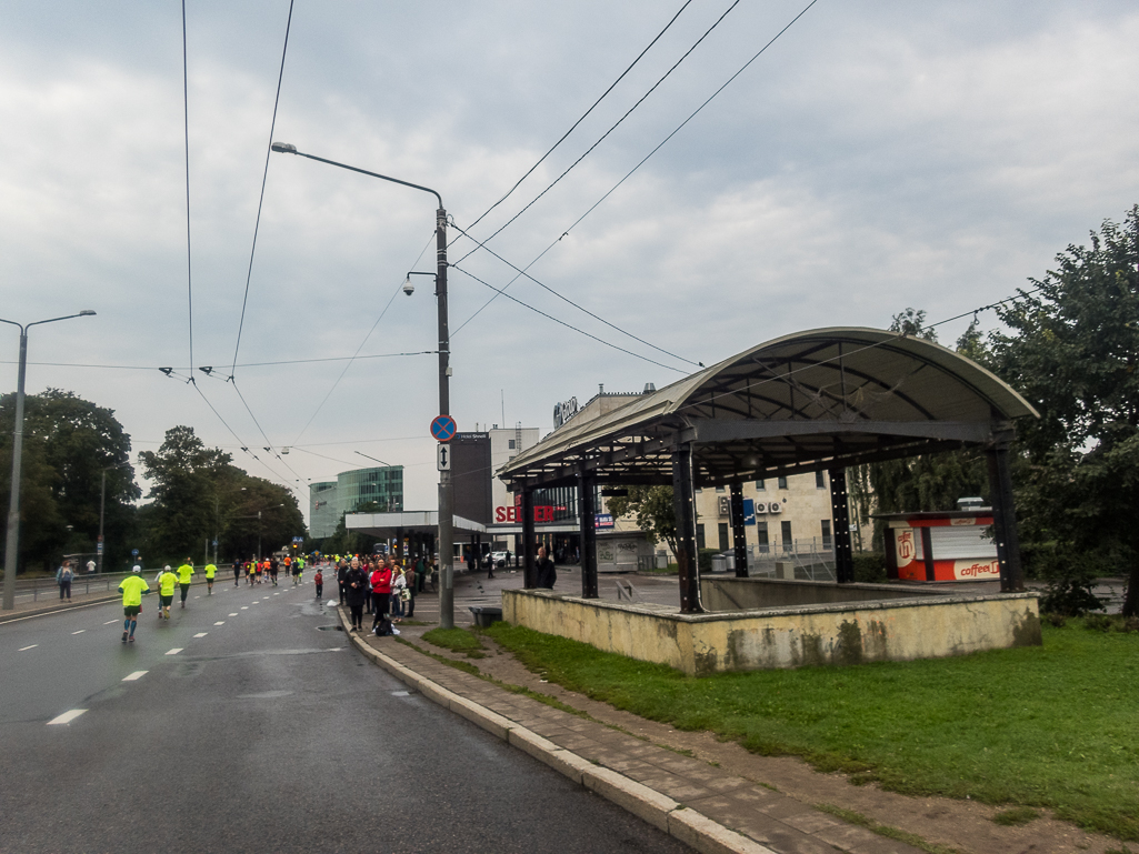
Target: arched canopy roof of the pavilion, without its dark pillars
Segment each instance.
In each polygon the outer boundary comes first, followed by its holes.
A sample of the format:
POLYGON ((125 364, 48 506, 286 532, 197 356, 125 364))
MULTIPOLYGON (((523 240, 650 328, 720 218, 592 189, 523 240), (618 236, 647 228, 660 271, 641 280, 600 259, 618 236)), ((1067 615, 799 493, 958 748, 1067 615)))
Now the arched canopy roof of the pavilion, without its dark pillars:
POLYGON ((951 350, 882 329, 835 327, 760 344, 600 418, 564 427, 499 470, 511 487, 671 483, 693 443, 697 485, 764 478, 1008 441, 1039 417, 951 350))

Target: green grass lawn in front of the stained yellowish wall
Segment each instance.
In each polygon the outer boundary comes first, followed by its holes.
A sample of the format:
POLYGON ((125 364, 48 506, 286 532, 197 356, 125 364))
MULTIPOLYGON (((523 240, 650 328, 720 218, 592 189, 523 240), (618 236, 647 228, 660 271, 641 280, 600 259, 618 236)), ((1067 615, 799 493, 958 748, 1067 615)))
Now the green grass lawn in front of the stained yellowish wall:
POLYGON ((1139 633, 1043 631, 1043 647, 702 679, 505 623, 487 633, 550 681, 677 729, 1139 840, 1139 633))

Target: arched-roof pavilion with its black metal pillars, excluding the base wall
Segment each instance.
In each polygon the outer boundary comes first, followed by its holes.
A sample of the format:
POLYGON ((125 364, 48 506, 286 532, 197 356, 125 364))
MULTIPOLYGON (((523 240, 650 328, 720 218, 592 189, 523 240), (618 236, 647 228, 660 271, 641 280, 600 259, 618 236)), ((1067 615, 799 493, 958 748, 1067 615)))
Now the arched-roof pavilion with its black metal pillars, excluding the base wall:
POLYGON ((582 597, 597 598, 599 484, 669 484, 677 509, 680 610, 703 610, 695 490, 728 486, 736 574, 746 576, 745 481, 827 470, 836 575, 853 581, 846 467, 982 447, 989 461, 1001 591, 1023 590, 1008 449, 1013 421, 1039 417, 1008 384, 939 344, 855 327, 782 336, 557 429, 498 471, 521 493, 524 584, 534 586, 533 492, 576 485, 582 597))

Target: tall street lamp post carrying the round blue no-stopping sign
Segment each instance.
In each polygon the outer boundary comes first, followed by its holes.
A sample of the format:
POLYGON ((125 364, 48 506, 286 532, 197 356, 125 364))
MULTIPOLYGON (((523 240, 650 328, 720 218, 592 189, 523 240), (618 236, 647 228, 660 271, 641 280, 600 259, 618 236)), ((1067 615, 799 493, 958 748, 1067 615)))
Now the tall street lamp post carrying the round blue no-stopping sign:
MULTIPOLYGON (((336 161, 328 161, 304 151, 296 150, 296 146, 288 142, 273 142, 272 150, 279 154, 295 154, 298 157, 308 157, 310 161, 327 163, 329 166, 338 166, 350 172, 359 172, 362 175, 378 178, 382 181, 410 187, 413 190, 429 192, 439 202, 435 211, 435 298, 439 309, 439 414, 451 413, 451 335, 448 330, 446 320, 446 210, 443 207, 443 197, 429 187, 421 187, 417 183, 401 181, 398 178, 382 175, 378 172, 368 172, 363 169, 349 166, 336 161)), ((408 291, 410 293, 410 291, 408 291)), ((439 622, 443 629, 454 627, 454 567, 451 563, 454 536, 451 527, 454 520, 454 490, 451 482, 450 470, 439 473, 439 559, 440 566, 440 591, 439 591, 439 622)))

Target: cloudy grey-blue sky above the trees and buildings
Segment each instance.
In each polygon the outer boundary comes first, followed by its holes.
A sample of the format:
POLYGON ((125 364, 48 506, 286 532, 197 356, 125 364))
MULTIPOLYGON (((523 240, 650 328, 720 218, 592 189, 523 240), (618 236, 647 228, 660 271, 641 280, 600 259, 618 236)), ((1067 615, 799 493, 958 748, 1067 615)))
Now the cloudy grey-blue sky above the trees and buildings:
MULTIPOLYGON (((32 328, 27 391, 113 409, 136 454, 192 426, 305 511, 361 454, 435 506, 436 304, 401 288, 435 198, 267 172, 274 101, 272 139, 442 196, 460 430, 968 313, 1139 202, 1134 3, 808 2, 295 0, 281 75, 288 0, 187 0, 183 100, 180 3, 0 0, 0 317, 98 312, 32 328)), ((0 325, 5 391, 17 356, 0 325)))

